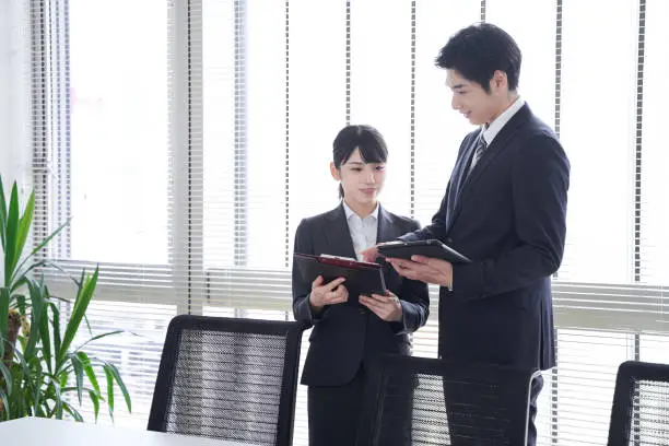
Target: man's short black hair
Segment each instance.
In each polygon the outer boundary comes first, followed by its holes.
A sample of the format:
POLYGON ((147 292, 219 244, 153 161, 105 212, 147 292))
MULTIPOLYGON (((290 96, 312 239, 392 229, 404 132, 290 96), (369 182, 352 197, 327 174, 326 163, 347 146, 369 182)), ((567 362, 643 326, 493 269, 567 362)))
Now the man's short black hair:
POLYGON ((490 93, 490 80, 496 70, 506 73, 509 91, 518 87, 521 60, 520 48, 504 30, 490 23, 478 23, 451 36, 435 63, 439 68, 456 70, 490 93))

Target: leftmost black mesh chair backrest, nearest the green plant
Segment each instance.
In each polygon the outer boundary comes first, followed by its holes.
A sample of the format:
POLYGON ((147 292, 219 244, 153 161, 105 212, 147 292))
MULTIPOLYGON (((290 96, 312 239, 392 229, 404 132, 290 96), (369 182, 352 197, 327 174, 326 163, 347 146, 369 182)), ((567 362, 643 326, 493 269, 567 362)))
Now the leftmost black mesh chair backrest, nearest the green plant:
POLYGON ((290 445, 302 331, 298 322, 176 316, 148 429, 290 445))

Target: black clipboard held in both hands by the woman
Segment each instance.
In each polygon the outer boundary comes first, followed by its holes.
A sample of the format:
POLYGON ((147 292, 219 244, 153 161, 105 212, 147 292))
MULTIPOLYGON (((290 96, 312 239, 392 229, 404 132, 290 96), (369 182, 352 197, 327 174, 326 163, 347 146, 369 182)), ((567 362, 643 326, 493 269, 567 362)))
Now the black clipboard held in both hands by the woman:
POLYGON ((349 303, 357 304, 360 294, 386 294, 386 281, 383 267, 378 263, 355 261, 334 256, 313 256, 309 254, 293 255, 300 275, 306 283, 312 283, 322 275, 324 283, 337 278, 345 278, 343 285, 349 291, 349 303))

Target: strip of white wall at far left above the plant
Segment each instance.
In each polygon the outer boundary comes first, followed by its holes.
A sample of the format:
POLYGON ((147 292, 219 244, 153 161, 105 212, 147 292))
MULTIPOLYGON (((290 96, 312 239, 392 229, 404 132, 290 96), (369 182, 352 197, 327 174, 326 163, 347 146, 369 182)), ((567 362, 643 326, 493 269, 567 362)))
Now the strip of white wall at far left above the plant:
MULTIPOLYGON (((25 0, 0 0, 0 174, 30 186, 30 32, 25 0)), ((24 190, 25 191, 25 190, 24 190)))

